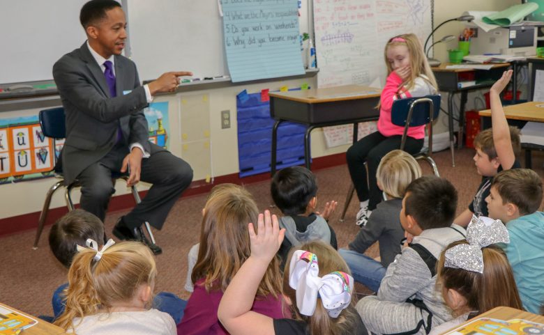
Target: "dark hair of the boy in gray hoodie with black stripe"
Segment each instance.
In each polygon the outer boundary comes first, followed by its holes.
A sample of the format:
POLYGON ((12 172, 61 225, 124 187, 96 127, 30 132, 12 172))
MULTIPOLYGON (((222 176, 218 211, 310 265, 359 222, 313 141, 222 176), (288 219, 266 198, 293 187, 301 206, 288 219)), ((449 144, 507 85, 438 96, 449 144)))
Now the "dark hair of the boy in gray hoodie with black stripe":
POLYGON ((408 185, 405 215, 416 219, 424 231, 449 227, 457 209, 457 190, 451 182, 437 176, 423 176, 408 185))

